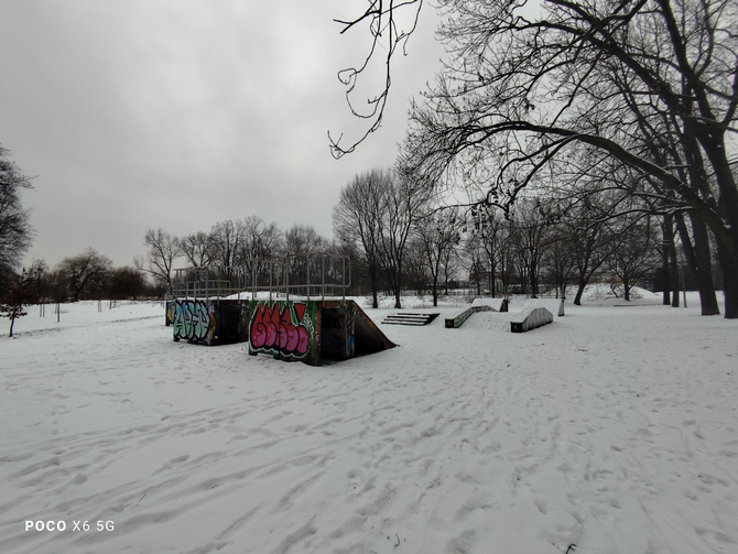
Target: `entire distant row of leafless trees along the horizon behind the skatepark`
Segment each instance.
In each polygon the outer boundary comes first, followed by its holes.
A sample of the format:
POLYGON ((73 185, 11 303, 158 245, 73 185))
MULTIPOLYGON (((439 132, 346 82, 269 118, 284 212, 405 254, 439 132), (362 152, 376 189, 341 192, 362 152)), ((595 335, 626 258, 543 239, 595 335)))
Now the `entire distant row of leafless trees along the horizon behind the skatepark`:
MULTIPOLYGON (((563 297, 575 285, 579 304, 595 278, 622 291, 626 300, 637 281, 656 280, 665 291, 664 303, 679 305, 674 226, 688 236, 691 221, 643 210, 637 196, 604 187, 604 182, 628 178, 616 170, 600 166, 587 187, 562 187, 567 178, 562 172, 545 194, 521 196, 513 208, 502 209, 448 203, 401 164, 375 169, 341 187, 333 239, 306 225, 283 230, 258 216, 181 237, 149 229, 145 256, 135 257, 132 265, 115 268, 88 248, 53 269, 40 260, 21 273, 7 273, 4 312, 34 302, 162 297, 171 291, 176 267, 228 271, 254 258, 318 251, 351 259, 350 293, 370 294, 373 307, 380 294, 393 296, 394 306, 402 307, 408 290, 430 294, 437 305, 459 281, 474 283, 478 295, 512 291, 563 297)), ((708 253, 713 250, 708 245, 708 253)), ((710 286, 712 281, 710 274, 710 286)))

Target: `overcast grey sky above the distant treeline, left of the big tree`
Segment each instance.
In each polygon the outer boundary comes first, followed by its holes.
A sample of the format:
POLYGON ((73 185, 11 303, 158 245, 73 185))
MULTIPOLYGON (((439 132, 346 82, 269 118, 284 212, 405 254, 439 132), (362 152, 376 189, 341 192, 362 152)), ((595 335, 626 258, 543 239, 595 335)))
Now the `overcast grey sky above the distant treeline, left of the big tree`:
MULTIPOLYGON (((35 189, 29 259, 93 247, 116 265, 143 233, 209 230, 252 214, 330 238, 338 192, 391 165, 408 100, 438 69, 425 7, 393 66, 380 131, 336 161, 327 131, 358 137, 336 73, 367 33, 333 18, 363 0, 3 0, 0 143, 35 189)), ((375 79, 372 85, 380 85, 375 79)), ((358 105, 360 96, 355 97, 358 105)))

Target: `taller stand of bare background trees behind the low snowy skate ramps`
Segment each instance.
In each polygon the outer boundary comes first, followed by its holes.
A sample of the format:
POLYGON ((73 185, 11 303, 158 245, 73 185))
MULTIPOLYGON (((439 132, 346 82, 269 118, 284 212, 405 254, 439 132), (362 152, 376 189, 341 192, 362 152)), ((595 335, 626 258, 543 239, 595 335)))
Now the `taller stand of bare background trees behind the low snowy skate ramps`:
MULTIPOLYGON (((554 188, 503 210, 449 204, 427 192, 401 169, 357 175, 340 192, 334 232, 361 260, 375 306, 377 292, 387 289, 395 307, 404 289, 428 292, 437 305, 458 279, 474 283, 477 295, 492 296, 564 297, 573 286, 575 304, 595 279, 627 301, 640 281, 664 291, 664 304, 679 306, 675 235, 628 195, 554 188)), ((715 297, 712 278, 710 286, 715 297)))

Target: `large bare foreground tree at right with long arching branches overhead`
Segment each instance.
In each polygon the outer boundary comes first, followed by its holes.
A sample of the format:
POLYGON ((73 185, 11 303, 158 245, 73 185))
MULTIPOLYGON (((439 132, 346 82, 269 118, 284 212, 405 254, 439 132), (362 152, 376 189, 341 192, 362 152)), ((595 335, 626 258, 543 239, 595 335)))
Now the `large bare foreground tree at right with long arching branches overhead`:
MULTIPOLYGON (((738 110, 738 14, 724 0, 525 2, 442 0, 452 58, 413 107, 405 156, 434 178, 491 183, 508 209, 536 175, 580 148, 656 186, 661 209, 688 210, 712 230, 724 272, 725 316, 738 317, 738 188, 726 133, 738 110), (612 90, 614 73, 638 110, 612 90), (702 159, 708 182, 652 155, 644 123, 671 118, 683 165, 702 159)), ((658 133, 656 133, 658 134, 658 133)), ((658 143, 658 149, 664 148, 658 143)), ((655 202, 654 202, 655 204, 655 202)))

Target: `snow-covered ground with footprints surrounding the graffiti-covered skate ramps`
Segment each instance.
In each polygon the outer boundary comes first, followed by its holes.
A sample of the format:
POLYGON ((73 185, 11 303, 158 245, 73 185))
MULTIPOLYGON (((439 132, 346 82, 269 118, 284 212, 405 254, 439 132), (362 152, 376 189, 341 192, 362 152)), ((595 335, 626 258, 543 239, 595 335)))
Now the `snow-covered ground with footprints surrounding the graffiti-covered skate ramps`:
POLYGON ((369 309, 400 347, 319 368, 174 343, 161 304, 32 307, 0 329, 0 552, 738 553, 738 322, 687 300, 527 334, 369 309))

